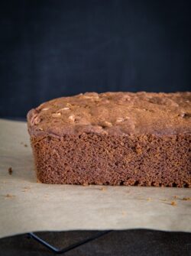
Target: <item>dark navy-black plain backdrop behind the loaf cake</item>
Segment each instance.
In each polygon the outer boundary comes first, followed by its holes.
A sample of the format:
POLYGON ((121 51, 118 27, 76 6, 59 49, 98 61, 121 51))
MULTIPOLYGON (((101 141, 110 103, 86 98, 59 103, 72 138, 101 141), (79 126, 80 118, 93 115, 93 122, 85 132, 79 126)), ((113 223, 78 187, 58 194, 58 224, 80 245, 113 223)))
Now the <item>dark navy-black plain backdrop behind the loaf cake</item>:
POLYGON ((1 1, 0 117, 86 91, 185 91, 190 1, 1 1))

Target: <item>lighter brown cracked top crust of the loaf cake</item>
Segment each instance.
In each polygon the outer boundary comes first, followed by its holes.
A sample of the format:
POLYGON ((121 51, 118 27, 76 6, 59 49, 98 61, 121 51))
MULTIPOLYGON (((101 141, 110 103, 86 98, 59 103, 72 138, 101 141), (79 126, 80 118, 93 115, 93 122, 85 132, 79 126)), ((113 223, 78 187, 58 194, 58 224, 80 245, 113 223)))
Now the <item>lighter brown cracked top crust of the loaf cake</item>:
POLYGON ((191 131, 191 92, 86 92, 28 112, 31 135, 183 134, 191 131))

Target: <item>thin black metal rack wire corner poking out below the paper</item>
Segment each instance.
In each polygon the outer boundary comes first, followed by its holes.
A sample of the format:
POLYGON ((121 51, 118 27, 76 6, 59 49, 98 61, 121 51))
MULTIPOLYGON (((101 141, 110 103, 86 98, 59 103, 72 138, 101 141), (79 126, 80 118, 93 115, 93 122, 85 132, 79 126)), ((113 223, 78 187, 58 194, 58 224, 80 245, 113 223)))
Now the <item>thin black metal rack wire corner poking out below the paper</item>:
POLYGON ((108 233, 112 232, 112 230, 106 230, 106 231, 102 231, 102 232, 97 232, 95 235, 92 235, 89 238, 83 239, 82 241, 78 241, 76 243, 74 243, 73 245, 69 245, 65 248, 56 248, 53 245, 50 245, 49 243, 47 243, 47 241, 44 241, 42 238, 40 238, 38 235, 35 235, 34 232, 30 232, 28 233, 28 238, 33 238, 35 241, 39 242, 41 245, 44 245, 44 247, 46 247, 47 249, 49 249, 50 251, 52 251, 54 254, 64 254, 67 251, 71 251, 74 248, 79 247, 80 245, 84 245, 86 243, 88 243, 89 241, 93 241, 97 238, 100 238, 102 235, 106 235, 108 233))

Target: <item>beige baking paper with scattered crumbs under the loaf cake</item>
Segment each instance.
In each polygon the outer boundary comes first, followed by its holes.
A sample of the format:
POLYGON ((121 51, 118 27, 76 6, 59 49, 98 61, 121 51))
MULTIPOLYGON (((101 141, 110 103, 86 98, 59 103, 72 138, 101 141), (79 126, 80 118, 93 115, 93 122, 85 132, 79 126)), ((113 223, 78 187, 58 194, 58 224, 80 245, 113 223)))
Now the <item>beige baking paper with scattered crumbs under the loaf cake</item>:
POLYGON ((37 183, 26 123, 0 120, 1 238, 77 229, 190 232, 190 196, 190 189, 37 183))

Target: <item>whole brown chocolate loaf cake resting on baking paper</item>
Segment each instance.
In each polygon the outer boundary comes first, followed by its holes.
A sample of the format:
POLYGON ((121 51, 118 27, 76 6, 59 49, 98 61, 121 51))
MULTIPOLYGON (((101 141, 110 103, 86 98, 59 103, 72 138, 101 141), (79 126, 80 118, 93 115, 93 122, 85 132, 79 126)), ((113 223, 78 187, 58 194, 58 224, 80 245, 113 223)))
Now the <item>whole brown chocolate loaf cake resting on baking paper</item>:
POLYGON ((41 183, 191 187, 191 92, 87 92, 28 112, 41 183))

